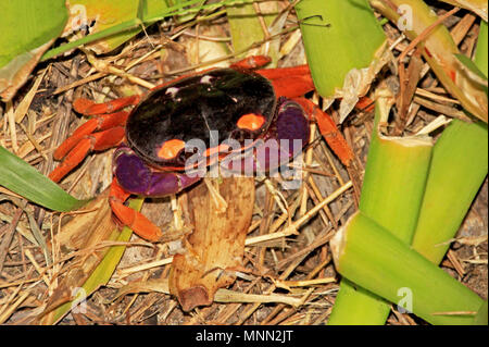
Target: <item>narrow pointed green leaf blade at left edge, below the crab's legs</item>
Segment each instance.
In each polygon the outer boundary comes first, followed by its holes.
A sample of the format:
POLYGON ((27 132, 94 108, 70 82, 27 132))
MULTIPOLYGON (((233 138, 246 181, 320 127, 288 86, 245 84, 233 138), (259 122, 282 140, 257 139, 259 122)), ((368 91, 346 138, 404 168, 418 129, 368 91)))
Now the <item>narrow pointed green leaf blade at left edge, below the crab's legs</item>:
POLYGON ((67 212, 88 200, 77 200, 21 158, 0 146, 0 186, 45 208, 67 212))

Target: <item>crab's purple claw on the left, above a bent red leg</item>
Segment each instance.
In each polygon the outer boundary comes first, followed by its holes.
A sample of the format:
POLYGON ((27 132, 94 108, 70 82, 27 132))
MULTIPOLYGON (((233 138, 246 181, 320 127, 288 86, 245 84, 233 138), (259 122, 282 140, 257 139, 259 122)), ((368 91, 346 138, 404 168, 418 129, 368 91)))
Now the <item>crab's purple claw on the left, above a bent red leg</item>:
POLYGON ((153 170, 124 145, 114 152, 114 175, 126 191, 148 197, 176 194, 201 179, 200 176, 153 170))

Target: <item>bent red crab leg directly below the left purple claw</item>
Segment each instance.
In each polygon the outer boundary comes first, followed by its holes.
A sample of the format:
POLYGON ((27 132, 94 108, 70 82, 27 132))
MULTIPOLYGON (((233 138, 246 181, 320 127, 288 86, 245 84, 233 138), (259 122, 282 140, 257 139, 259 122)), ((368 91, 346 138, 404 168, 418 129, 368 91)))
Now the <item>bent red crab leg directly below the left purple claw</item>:
POLYGON ((124 225, 129 226, 136 234, 142 238, 155 243, 163 236, 162 231, 151 223, 142 213, 124 206, 124 201, 130 196, 125 191, 114 178, 112 181, 109 195, 109 203, 112 212, 124 225))

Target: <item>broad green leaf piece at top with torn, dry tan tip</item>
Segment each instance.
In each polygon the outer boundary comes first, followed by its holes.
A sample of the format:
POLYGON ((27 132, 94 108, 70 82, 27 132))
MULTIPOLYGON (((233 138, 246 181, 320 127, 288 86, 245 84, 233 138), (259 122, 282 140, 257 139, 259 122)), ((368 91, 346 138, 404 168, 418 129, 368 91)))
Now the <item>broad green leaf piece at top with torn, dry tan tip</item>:
POLYGON ((388 60, 384 29, 366 0, 302 0, 296 11, 314 86, 342 99, 342 122, 388 60))

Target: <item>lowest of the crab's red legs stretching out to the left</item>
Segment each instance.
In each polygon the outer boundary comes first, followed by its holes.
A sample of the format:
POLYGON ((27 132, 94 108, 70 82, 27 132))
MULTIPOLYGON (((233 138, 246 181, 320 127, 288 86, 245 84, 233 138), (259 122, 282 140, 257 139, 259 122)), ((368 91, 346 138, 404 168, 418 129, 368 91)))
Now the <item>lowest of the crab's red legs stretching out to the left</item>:
POLYGON ((100 133, 85 135, 66 154, 63 161, 49 174, 49 178, 60 182, 70 171, 87 157, 90 150, 104 150, 118 145, 124 139, 124 126, 116 126, 100 133))

